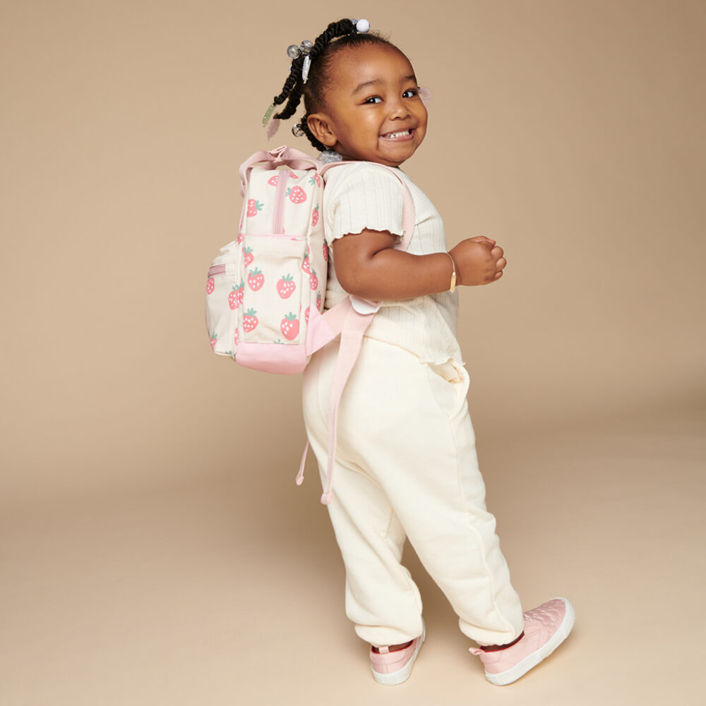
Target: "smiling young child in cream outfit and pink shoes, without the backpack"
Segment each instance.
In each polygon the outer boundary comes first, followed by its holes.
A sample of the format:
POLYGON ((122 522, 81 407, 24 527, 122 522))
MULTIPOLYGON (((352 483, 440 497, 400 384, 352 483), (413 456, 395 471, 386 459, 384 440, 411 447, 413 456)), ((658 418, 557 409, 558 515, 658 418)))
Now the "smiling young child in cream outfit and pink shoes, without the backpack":
MULTIPOLYGON (((404 172, 416 212, 407 251, 402 186, 388 169, 414 155, 426 134, 424 91, 409 60, 366 20, 331 23, 313 42, 289 47, 289 78, 275 118, 294 126, 328 160, 323 217, 330 246, 325 306, 348 294, 379 301, 338 413, 333 501, 328 505, 346 569, 346 611, 371 643, 381 684, 412 671, 424 642, 421 599, 402 566, 409 537, 459 616, 486 678, 508 684, 566 639, 574 611, 563 598, 522 613, 486 511, 468 375, 455 338, 455 285, 486 285, 503 274, 503 249, 486 237, 447 251, 441 217, 404 172), (421 93, 421 95, 420 95, 421 93)), ((304 372, 304 420, 326 467, 328 396, 339 342, 304 372)))

